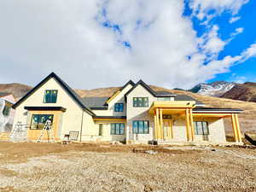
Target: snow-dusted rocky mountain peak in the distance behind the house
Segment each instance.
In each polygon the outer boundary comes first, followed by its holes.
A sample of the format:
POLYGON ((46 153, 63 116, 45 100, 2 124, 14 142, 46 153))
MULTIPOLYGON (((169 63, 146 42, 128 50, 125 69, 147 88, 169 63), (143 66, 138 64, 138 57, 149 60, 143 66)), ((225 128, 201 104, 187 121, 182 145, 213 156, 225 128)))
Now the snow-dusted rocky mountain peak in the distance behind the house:
POLYGON ((202 96, 222 96, 234 86, 235 83, 215 81, 210 84, 197 84, 190 91, 202 96))

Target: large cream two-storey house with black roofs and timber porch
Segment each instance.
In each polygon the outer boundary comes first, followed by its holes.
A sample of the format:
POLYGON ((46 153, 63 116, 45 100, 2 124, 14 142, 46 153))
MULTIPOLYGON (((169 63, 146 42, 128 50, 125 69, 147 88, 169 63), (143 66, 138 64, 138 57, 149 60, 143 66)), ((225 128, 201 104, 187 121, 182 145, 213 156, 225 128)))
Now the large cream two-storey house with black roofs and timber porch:
POLYGON ((224 118, 230 118, 236 144, 242 143, 240 109, 204 108, 190 96, 154 91, 143 80, 130 80, 110 97, 81 98, 50 73, 13 108, 14 127, 27 125, 28 140, 37 140, 50 119, 57 140, 227 143, 224 118))

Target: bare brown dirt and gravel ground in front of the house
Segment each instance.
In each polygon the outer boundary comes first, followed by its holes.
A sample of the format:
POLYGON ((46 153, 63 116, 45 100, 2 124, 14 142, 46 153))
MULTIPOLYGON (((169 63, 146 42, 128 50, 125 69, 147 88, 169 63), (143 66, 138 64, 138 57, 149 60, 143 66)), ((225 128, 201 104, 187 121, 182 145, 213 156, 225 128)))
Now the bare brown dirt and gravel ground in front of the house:
POLYGON ((256 148, 2 142, 0 191, 256 191, 256 148))

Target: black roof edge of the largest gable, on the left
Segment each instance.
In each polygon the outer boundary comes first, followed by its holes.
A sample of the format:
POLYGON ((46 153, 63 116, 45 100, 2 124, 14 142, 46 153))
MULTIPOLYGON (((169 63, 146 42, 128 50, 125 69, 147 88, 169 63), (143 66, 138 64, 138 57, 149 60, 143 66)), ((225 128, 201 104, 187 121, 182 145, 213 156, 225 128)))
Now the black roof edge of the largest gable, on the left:
POLYGON ((78 96, 73 89, 71 89, 68 84, 66 84, 59 76, 57 76, 55 73, 50 73, 46 78, 44 78, 39 84, 37 84, 35 87, 32 88, 28 93, 26 93, 25 96, 23 96, 18 102, 15 103, 13 108, 17 108, 20 103, 24 102, 26 98, 31 96, 36 90, 38 90, 43 84, 49 81, 49 79, 55 79, 59 84, 61 84, 61 87, 67 91, 67 94, 73 98, 73 100, 79 105, 80 108, 84 109, 87 113, 90 113, 90 115, 95 115, 90 108, 87 108, 84 103, 82 102, 80 96, 78 96))

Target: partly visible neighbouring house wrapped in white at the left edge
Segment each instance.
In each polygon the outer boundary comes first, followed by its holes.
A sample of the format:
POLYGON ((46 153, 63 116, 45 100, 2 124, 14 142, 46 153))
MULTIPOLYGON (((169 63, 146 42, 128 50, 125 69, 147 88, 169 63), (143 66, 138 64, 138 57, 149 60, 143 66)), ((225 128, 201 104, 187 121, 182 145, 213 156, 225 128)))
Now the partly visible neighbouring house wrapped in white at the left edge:
POLYGON ((0 132, 11 131, 15 117, 12 109, 15 97, 11 93, 0 92, 0 132))

